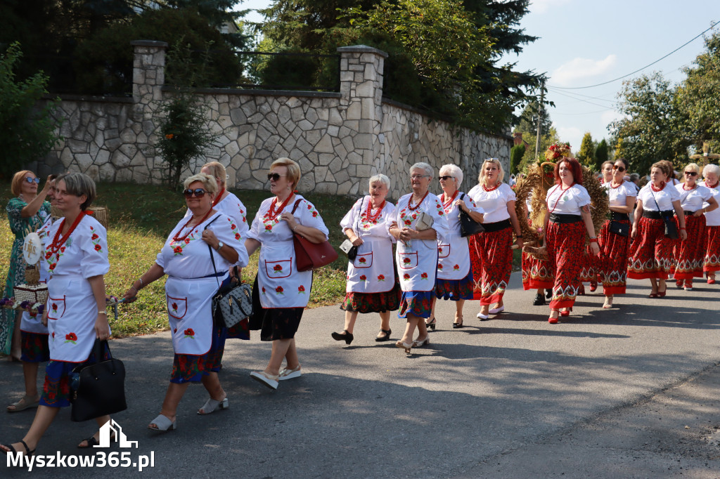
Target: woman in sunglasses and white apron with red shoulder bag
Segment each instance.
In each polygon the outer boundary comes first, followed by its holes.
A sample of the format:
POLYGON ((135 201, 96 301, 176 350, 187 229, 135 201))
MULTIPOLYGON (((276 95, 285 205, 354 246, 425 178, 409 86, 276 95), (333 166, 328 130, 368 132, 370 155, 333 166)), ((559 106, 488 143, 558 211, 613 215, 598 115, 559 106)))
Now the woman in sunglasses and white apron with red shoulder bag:
POLYGON ((253 284, 251 323, 261 329, 262 341, 272 342, 267 366, 250 375, 264 386, 276 389, 278 381, 302 375, 295 333, 312 286, 312 271, 297 270, 293 233, 318 244, 328 239, 328 228, 315 206, 294 193, 300 181, 297 163, 289 158, 275 160, 270 165, 268 180, 274 196, 261 203, 245 247, 250 255, 261 248, 253 284), (281 370, 283 360, 286 365, 281 370))

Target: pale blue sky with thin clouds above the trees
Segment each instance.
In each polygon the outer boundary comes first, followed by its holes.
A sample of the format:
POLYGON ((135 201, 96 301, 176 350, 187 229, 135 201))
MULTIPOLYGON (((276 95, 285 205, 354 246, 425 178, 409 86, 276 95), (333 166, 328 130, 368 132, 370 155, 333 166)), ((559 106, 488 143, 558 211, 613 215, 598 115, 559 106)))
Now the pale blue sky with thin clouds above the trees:
MULTIPOLYGON (((238 9, 269 4, 268 0, 247 0, 238 9)), ((521 27, 539 39, 505 60, 517 62, 523 70, 548 74, 548 98, 555 103, 548 113, 560 138, 578 150, 585 132, 596 141, 609 139, 607 126, 620 117, 615 104, 622 81, 578 90, 562 88, 595 85, 631 73, 680 47, 713 22, 720 22, 720 0, 534 0, 521 27)), ((698 38, 626 79, 661 71, 670 81, 682 81, 682 68, 692 65, 702 50, 703 40, 698 38)))

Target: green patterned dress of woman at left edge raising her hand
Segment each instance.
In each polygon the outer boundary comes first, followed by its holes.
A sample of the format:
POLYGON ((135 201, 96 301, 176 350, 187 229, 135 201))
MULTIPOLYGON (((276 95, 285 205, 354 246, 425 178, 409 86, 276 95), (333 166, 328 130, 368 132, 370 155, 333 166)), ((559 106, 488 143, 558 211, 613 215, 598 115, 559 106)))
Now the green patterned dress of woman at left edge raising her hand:
MULTIPOLYGON (((27 234, 40 229, 45 219, 50 216, 50 203, 43 201, 42 206, 35 216, 28 218, 22 217, 22 209, 27 203, 19 198, 11 199, 6 207, 7 219, 10 223, 10 230, 15 235, 15 241, 12 243, 12 252, 10 253, 10 268, 5 281, 5 290, 3 296, 10 298, 13 295, 14 286, 25 282, 25 260, 22 257, 22 243, 27 234)), ((10 354, 10 346, 12 345, 12 331, 15 325, 15 314, 10 309, 0 309, 0 352, 6 355, 10 354)))

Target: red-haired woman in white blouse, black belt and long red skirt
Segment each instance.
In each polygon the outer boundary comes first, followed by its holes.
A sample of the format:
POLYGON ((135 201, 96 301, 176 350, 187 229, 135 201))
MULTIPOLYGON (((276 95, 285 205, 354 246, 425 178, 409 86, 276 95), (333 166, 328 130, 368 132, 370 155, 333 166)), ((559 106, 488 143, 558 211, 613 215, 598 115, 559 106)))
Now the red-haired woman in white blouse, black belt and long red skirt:
POLYGON ((556 324, 561 315, 570 315, 580 291, 586 232, 590 237, 590 254, 596 256, 600 251, 590 216, 590 195, 582 186, 580 163, 572 157, 558 160, 555 183, 547 191, 544 227, 548 263, 555 278, 548 319, 551 324, 556 324))

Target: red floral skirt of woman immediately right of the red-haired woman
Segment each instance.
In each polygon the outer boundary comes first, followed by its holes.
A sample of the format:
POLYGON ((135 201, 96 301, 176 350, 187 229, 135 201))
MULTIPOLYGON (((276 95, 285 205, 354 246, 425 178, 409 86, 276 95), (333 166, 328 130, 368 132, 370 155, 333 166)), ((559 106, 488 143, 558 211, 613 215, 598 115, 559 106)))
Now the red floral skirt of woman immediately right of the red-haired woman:
MULTIPOLYGON (((619 222, 628 227, 630 225, 626 219, 619 222)), ((608 220, 600 228, 598 246, 600 246, 600 257, 595 264, 597 265, 598 279, 603 283, 605 296, 625 294, 630 236, 621 236, 611 232, 608 220)))

